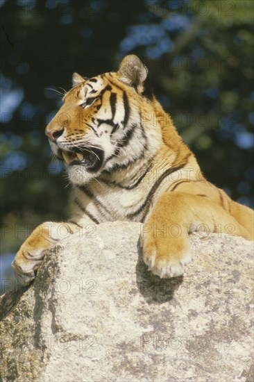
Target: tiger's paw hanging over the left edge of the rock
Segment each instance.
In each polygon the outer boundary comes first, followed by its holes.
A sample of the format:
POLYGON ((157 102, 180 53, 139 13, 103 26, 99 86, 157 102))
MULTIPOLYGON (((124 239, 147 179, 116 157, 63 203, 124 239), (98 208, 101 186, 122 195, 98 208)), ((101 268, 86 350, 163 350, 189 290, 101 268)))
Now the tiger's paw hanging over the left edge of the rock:
POLYGON ((26 243, 22 245, 12 261, 12 269, 21 285, 28 285, 35 279, 45 253, 44 249, 31 249, 26 246, 26 243))

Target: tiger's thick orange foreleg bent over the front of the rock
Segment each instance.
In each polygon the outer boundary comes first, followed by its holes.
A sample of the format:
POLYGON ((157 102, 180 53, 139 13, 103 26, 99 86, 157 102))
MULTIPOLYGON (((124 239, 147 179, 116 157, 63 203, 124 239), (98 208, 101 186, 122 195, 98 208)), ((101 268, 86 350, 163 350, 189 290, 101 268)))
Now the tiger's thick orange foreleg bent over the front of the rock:
POLYGON ((188 235, 197 229, 205 230, 205 235, 223 232, 251 240, 248 231, 214 201, 185 192, 169 192, 157 201, 140 235, 149 270, 161 278, 182 275, 192 260, 188 235))

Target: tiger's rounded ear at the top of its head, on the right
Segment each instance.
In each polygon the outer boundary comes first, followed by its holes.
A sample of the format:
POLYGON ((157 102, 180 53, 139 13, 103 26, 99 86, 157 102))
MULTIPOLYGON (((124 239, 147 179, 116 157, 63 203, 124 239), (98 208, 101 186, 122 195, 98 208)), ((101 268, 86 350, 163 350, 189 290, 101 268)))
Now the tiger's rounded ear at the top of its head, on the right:
POLYGON ((137 56, 130 54, 124 57, 117 74, 121 82, 133 86, 139 93, 143 92, 148 70, 137 56))

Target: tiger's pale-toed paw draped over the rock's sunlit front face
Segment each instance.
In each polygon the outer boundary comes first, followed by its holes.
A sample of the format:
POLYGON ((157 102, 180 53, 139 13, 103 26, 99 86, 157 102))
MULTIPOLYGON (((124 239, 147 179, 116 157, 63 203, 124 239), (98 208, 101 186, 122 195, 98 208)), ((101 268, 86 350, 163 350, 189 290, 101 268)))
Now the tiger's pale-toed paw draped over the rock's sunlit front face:
POLYGON ((183 238, 155 237, 153 233, 144 233, 140 242, 144 263, 161 279, 181 276, 185 265, 192 260, 188 242, 183 238))

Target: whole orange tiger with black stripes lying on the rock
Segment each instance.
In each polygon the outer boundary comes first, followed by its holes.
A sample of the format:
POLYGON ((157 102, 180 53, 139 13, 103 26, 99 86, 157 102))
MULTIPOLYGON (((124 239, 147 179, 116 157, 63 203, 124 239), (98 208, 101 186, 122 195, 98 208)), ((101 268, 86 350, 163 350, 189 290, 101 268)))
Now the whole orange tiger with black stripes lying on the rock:
POLYGON ((19 283, 35 279, 46 251, 65 234, 91 224, 143 223, 144 263, 161 279, 183 276, 192 232, 230 229, 253 240, 253 210, 206 180, 137 56, 126 56, 117 72, 74 73, 72 82, 45 131, 74 188, 71 218, 44 222, 28 236, 12 262, 19 283))

